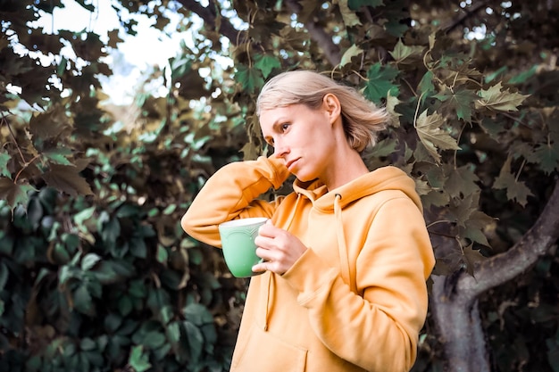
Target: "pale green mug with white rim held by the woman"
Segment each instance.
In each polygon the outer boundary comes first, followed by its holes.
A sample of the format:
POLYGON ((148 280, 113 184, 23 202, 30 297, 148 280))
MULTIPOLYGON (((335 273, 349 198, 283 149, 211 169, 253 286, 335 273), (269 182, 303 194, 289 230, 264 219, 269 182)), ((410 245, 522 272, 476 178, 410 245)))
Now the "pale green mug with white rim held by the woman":
POLYGON ((262 274, 252 270, 261 261, 256 255, 254 238, 258 236, 258 228, 267 220, 265 217, 233 219, 219 226, 223 257, 233 276, 253 277, 262 274))

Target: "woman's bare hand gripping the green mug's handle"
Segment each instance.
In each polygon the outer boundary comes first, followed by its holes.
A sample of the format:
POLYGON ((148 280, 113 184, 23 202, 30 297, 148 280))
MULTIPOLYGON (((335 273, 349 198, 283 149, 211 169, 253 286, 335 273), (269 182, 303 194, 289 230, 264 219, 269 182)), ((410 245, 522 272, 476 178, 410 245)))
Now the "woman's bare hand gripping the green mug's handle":
POLYGON ((299 238, 273 226, 270 220, 259 228, 254 243, 258 246, 256 255, 262 258, 263 262, 254 265, 253 271, 269 270, 279 275, 291 269, 307 249, 299 238))

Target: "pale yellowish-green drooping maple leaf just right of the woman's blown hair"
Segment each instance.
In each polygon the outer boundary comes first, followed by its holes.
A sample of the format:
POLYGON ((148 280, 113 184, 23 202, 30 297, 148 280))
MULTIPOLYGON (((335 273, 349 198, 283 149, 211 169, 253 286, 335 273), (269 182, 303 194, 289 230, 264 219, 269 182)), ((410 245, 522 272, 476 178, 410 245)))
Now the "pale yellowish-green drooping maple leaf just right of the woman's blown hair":
POLYGON ((421 143, 425 146, 430 155, 440 163, 438 149, 441 150, 460 150, 455 138, 441 129, 445 120, 438 112, 432 115, 427 114, 427 110, 421 112, 414 127, 421 143))

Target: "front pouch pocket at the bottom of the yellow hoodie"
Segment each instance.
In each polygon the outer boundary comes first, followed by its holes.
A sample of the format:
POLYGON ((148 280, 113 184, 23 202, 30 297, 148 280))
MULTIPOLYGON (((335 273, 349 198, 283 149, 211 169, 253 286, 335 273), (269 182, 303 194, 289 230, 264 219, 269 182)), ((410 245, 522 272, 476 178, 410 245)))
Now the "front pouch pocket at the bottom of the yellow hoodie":
POLYGON ((238 340, 230 372, 303 372, 307 351, 263 332, 254 324, 247 336, 238 340))

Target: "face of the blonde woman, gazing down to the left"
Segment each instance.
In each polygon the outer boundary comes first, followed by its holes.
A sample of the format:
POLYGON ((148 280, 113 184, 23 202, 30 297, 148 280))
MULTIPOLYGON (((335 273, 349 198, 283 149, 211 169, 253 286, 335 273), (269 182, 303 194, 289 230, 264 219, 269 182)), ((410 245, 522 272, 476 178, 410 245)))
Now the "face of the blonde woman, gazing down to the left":
POLYGON ((283 159, 296 178, 325 180, 335 156, 333 116, 325 99, 317 110, 305 104, 263 110, 260 126, 274 156, 283 159))

